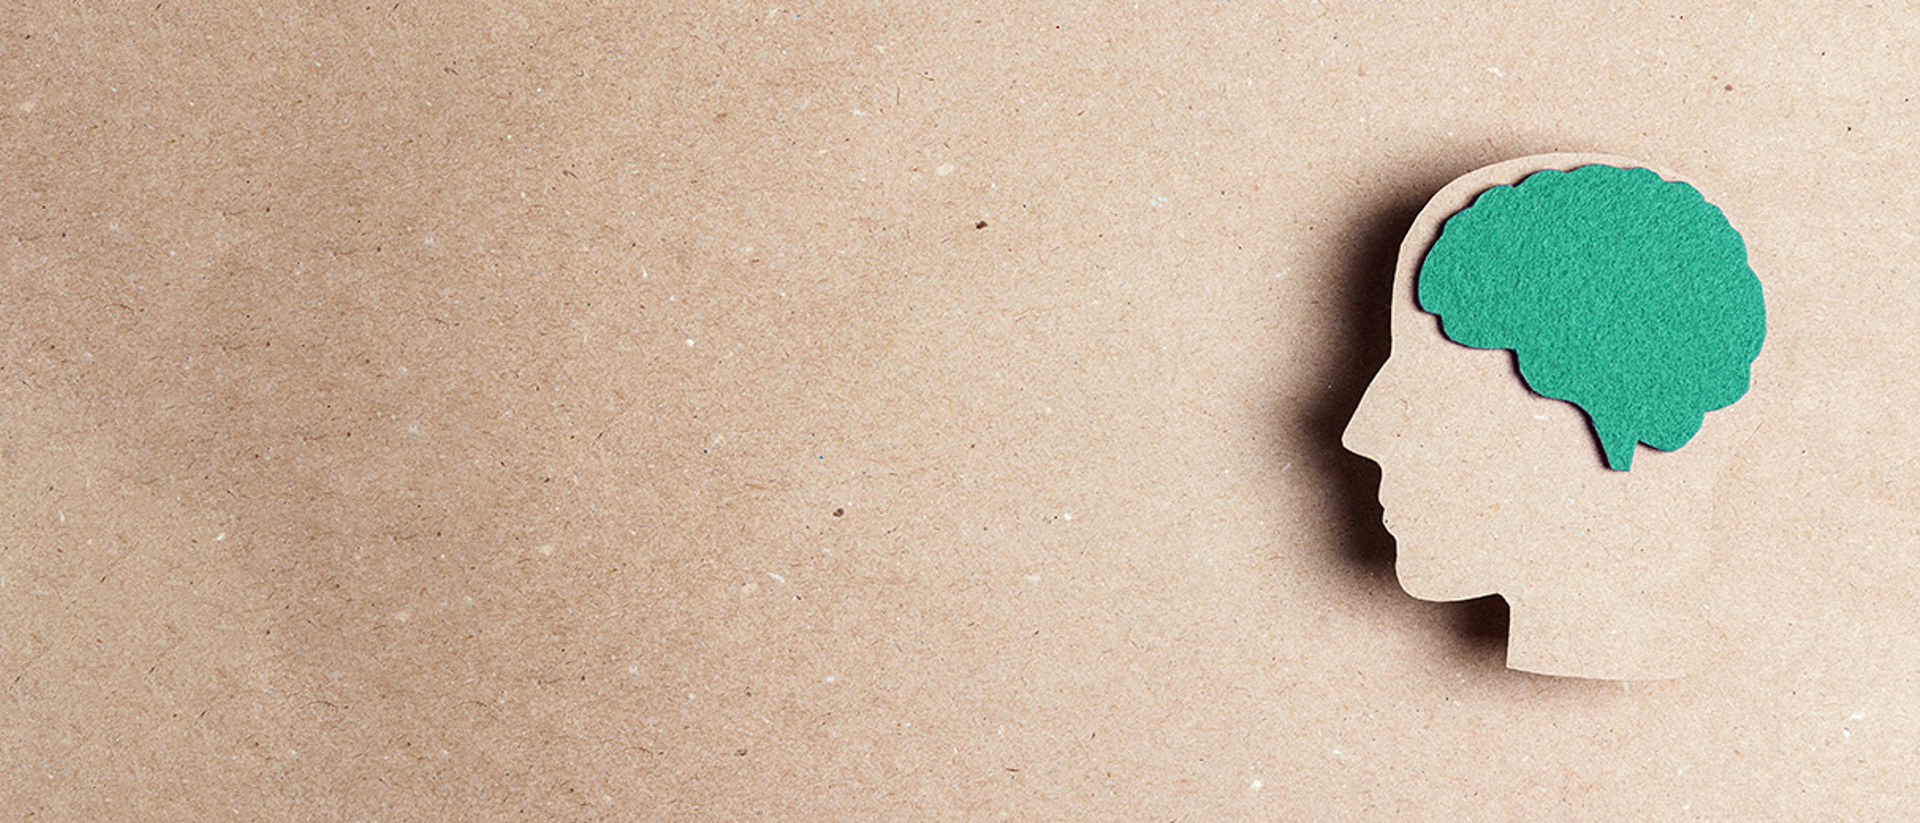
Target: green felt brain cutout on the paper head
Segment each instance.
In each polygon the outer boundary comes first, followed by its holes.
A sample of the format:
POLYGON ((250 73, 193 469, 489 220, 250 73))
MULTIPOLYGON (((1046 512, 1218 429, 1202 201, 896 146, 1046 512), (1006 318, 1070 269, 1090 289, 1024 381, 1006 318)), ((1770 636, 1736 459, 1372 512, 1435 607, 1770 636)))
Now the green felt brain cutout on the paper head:
POLYGON ((1578 405, 1620 472, 1638 443, 1674 451, 1747 393, 1766 338, 1740 232, 1647 169, 1486 190, 1446 221, 1417 286, 1448 338, 1513 349, 1526 386, 1578 405))

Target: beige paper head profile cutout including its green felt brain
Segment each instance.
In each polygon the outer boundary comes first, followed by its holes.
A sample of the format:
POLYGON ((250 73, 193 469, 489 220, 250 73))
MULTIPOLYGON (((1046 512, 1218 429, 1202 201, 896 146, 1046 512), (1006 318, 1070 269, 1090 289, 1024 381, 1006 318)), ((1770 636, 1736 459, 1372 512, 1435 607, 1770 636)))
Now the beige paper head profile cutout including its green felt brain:
POLYGON ((1672 175, 1563 153, 1448 184, 1402 244, 1392 357, 1344 435, 1380 464, 1402 587, 1505 597, 1515 670, 1693 668, 1715 491, 1753 432, 1728 403, 1763 336, 1740 236, 1672 175), (1670 453, 1632 462, 1638 443, 1670 453))

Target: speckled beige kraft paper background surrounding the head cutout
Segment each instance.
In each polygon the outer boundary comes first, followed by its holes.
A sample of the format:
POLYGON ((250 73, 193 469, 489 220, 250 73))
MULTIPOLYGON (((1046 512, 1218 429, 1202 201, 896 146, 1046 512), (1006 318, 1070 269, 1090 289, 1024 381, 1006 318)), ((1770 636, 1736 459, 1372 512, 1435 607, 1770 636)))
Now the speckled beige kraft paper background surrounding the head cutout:
POLYGON ((1910 813, 1920 10, 595 6, 0 13, 8 817, 1910 813), (1557 150, 1768 290, 1684 681, 1338 445, 1557 150))

